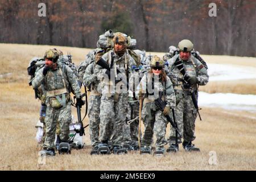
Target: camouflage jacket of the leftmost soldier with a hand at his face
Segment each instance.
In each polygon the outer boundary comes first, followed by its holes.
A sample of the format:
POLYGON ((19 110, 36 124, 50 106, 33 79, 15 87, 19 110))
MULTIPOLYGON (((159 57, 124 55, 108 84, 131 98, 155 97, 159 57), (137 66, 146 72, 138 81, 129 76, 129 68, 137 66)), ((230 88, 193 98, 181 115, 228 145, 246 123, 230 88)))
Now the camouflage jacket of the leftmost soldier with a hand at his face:
POLYGON ((49 69, 46 76, 43 75, 43 69, 36 72, 35 77, 32 79, 33 88, 38 88, 43 84, 44 89, 47 91, 67 88, 67 92, 73 92, 76 98, 81 96, 81 91, 77 83, 77 79, 72 69, 64 63, 58 63, 55 70, 49 69), (64 82, 63 82, 64 79, 64 82), (65 86, 64 86, 65 84, 65 86))

